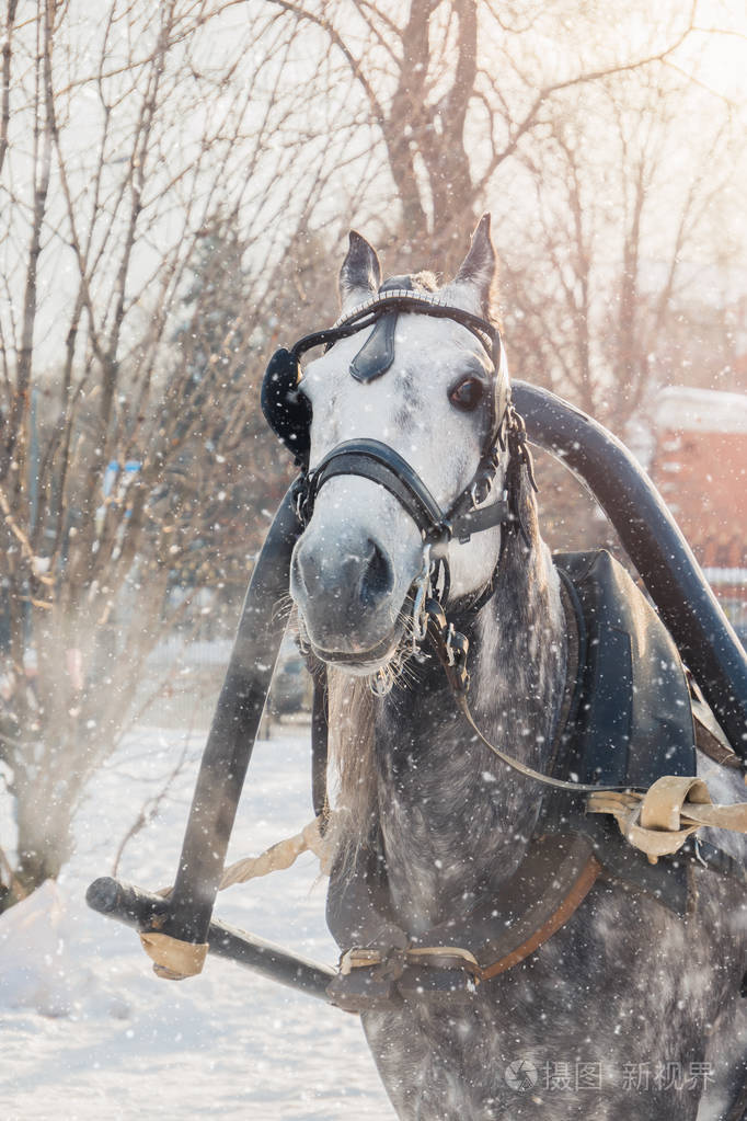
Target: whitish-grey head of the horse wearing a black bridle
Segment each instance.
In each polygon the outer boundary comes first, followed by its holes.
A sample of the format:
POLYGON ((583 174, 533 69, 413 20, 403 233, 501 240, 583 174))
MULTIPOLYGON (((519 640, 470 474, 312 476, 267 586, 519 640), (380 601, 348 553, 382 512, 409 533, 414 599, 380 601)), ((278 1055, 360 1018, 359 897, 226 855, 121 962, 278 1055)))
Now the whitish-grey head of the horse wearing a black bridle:
POLYGON ((495 414, 505 411, 507 377, 499 336, 492 346, 473 330, 479 322, 488 326, 495 277, 488 215, 456 278, 438 290, 429 275, 382 286, 375 250, 351 233, 338 324, 355 324, 372 302, 402 289, 422 295, 431 308, 419 314, 400 306, 336 339, 299 383, 311 410, 311 480, 338 450, 371 442, 393 463, 383 485, 381 465, 325 479, 293 553, 291 595, 314 652, 351 673, 372 674, 395 656, 410 630, 413 589, 439 558, 448 565, 452 600, 479 591, 496 567, 498 525, 469 540, 449 540, 451 527, 429 528, 427 517, 413 515, 407 485, 404 494, 391 485, 393 474, 405 484, 414 476, 411 485, 424 489, 441 512, 491 504, 503 493, 506 460, 496 436, 504 417, 495 414))

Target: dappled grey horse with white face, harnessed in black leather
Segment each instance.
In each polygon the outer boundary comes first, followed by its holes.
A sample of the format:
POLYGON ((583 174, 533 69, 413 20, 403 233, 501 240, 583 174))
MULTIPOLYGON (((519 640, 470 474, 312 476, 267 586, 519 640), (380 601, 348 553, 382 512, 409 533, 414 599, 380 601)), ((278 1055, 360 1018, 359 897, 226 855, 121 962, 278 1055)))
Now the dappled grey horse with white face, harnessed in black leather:
MULTIPOLYGON (((573 581, 578 590, 603 569, 603 582, 623 580, 604 554, 562 573, 540 538, 499 342, 479 328, 495 272, 487 219, 441 289, 429 275, 381 286, 376 253, 352 234, 343 321, 380 288, 464 316, 393 303, 310 362, 300 385, 312 411, 312 494, 291 593, 327 667, 340 772, 328 917, 346 956, 335 995, 362 1012, 401 1118, 727 1115, 746 1075, 744 884, 691 856, 646 864, 657 881, 637 865, 615 876, 572 844, 571 874, 566 864, 555 874, 564 842, 547 844, 562 836, 547 823, 550 795, 505 766, 457 703, 464 647, 439 621, 439 601, 469 642, 482 735, 573 781, 572 766, 562 768, 570 724, 583 719, 573 714, 573 581), (373 467, 357 470, 366 448, 373 467), (449 511, 459 532, 433 528, 433 510, 449 511), (667 886, 678 877, 680 907, 667 886), (536 884, 560 895, 532 924, 524 911, 536 884), (519 946, 504 937, 516 923, 519 946)), ((643 610, 626 589, 633 612, 643 610)), ((703 771, 721 800, 744 794, 711 760, 703 771)), ((741 839, 719 844, 744 862, 741 839)))

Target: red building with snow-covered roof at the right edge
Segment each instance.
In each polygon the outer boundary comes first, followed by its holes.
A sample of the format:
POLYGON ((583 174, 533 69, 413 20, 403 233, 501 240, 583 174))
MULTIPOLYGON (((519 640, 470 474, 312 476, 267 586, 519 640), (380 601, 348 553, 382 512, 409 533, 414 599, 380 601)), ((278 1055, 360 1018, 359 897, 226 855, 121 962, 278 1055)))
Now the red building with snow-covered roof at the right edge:
POLYGON ((747 634, 747 396, 671 387, 650 473, 731 622, 747 634))

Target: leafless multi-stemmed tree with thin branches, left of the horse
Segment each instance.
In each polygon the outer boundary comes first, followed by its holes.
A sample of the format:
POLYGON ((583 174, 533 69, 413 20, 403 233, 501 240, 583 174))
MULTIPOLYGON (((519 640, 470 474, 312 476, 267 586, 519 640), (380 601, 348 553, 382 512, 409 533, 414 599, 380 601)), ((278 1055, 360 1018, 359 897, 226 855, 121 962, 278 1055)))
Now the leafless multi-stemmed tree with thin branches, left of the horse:
POLYGON ((3 33, 0 906, 67 859, 175 583, 171 614, 246 577, 287 478, 256 419, 268 303, 339 172, 263 6, 37 0, 19 24, 11 0, 3 33), (234 306, 211 334, 215 278, 184 299, 216 222, 234 306))

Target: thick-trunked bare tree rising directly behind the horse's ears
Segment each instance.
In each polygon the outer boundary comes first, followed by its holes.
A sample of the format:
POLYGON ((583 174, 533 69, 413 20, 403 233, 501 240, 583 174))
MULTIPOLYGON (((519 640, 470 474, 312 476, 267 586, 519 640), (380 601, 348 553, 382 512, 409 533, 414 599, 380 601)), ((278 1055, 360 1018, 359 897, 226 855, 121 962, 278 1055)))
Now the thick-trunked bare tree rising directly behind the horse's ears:
MULTIPOLYGON (((557 100, 675 56, 697 7, 673 6, 645 43, 625 46, 595 3, 569 19, 562 6, 493 0, 271 2, 325 44, 336 83, 351 91, 348 111, 368 123, 396 204, 379 209, 380 243, 446 269, 460 260, 497 173, 541 133, 557 100)), ((370 206, 362 213, 373 221, 370 206)))

